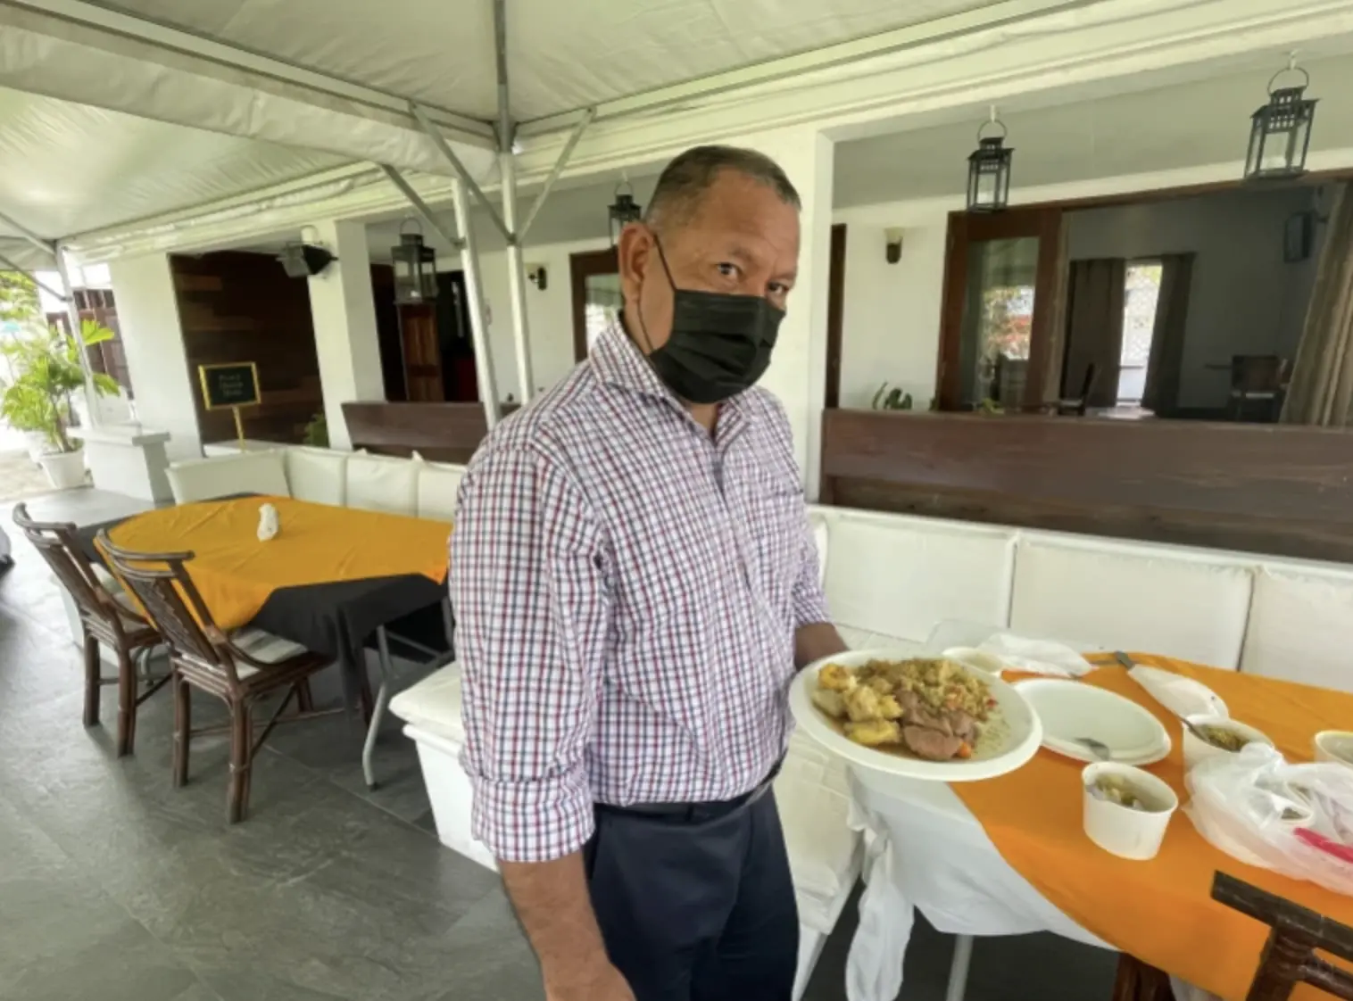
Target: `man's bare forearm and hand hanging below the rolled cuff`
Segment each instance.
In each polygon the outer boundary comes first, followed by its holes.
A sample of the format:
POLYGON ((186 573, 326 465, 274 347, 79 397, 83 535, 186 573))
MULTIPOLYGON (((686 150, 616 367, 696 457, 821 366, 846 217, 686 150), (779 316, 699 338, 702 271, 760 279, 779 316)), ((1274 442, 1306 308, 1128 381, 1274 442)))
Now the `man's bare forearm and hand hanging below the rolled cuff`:
POLYGON ((499 862, 498 867, 540 959, 548 1001, 635 1001, 606 956, 582 852, 552 862, 499 862))

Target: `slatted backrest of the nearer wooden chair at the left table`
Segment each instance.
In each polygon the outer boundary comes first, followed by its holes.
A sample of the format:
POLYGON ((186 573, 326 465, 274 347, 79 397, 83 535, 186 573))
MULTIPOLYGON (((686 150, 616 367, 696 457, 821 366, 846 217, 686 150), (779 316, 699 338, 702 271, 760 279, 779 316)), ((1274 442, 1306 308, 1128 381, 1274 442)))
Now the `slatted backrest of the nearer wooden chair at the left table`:
POLYGON ((99 549, 112 563, 127 590, 135 595, 172 653, 221 672, 233 684, 239 683, 225 636, 212 622, 211 613, 184 567, 193 559, 193 553, 120 549, 108 538, 107 529, 99 532, 99 549))

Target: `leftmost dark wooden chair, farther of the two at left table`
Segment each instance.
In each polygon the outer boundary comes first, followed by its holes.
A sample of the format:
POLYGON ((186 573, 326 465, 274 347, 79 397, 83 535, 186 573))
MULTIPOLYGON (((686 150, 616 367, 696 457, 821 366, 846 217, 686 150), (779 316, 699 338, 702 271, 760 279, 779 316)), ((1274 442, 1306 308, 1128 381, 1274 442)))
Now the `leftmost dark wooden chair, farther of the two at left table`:
POLYGON ((164 640, 126 595, 110 590, 116 587, 111 579, 110 584, 100 580, 80 546, 74 525, 34 521, 22 503, 14 509, 14 522, 51 567, 78 610, 85 659, 84 725, 99 724, 99 690, 116 684, 118 756, 130 755, 137 740, 137 709, 169 680, 169 675, 146 675, 146 687, 141 690, 150 652, 164 640), (103 676, 99 644, 118 655, 116 678, 103 676))

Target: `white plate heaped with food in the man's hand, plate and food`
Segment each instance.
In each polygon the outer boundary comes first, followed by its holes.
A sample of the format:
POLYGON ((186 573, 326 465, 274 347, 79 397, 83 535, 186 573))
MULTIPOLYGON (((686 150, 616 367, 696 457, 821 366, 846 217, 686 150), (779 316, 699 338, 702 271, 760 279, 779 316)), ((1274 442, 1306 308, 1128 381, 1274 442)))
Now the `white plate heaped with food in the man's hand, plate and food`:
POLYGON ((866 649, 794 679, 798 725, 852 764, 932 782, 1015 771, 1038 752, 1038 714, 1009 684, 943 657, 866 649))

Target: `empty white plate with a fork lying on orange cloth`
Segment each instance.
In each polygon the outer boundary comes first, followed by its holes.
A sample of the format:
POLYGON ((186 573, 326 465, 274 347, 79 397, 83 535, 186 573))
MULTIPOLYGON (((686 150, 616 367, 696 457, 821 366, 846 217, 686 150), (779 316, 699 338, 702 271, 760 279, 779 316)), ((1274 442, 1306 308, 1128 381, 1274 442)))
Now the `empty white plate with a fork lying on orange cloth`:
POLYGON ((1150 712, 1107 689, 1065 678, 1015 682, 1043 724, 1043 747, 1077 762, 1097 759, 1077 737, 1093 737, 1120 764, 1154 764, 1170 752, 1170 735, 1150 712))

